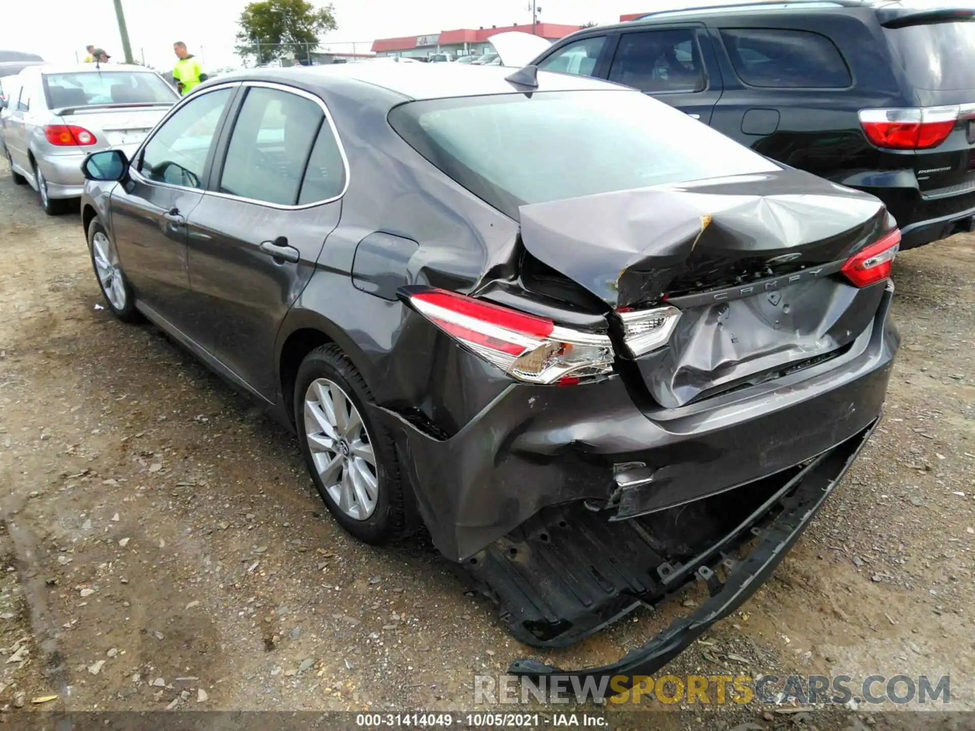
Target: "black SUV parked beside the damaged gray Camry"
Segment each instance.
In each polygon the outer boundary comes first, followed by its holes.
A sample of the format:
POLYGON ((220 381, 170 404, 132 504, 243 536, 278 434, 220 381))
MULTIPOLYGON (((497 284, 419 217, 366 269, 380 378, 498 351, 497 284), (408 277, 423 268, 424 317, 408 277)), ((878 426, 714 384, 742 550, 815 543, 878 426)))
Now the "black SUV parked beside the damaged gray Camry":
POLYGON ((910 249, 975 227, 973 20, 919 1, 663 11, 573 33, 533 63, 635 87, 872 193, 910 249))

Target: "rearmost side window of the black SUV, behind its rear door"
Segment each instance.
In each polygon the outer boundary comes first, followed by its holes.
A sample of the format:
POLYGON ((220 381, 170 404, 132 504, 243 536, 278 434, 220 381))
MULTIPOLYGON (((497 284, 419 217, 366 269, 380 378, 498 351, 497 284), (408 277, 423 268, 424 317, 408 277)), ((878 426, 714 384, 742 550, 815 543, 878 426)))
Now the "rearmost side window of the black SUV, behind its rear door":
POLYGON ((845 89, 849 68, 825 35, 780 28, 724 28, 724 47, 743 82, 776 89, 845 89))

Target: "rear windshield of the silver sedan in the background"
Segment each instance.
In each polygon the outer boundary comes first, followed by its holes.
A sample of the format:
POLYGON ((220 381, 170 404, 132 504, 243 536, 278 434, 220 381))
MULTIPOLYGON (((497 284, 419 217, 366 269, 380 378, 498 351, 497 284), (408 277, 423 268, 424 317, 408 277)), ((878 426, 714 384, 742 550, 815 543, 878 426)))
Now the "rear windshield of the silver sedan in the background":
POLYGON ((92 104, 151 104, 176 101, 176 92, 153 73, 143 71, 77 71, 45 74, 48 108, 92 104))

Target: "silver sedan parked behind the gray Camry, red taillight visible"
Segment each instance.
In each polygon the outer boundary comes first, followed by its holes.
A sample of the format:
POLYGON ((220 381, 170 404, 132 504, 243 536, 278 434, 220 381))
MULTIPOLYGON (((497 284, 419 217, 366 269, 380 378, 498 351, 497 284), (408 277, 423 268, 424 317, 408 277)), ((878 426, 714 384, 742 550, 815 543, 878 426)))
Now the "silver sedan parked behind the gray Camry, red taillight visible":
POLYGON ((28 66, 11 79, 0 110, 4 153, 14 181, 37 190, 52 215, 81 196, 89 152, 133 152, 179 98, 135 65, 28 66))

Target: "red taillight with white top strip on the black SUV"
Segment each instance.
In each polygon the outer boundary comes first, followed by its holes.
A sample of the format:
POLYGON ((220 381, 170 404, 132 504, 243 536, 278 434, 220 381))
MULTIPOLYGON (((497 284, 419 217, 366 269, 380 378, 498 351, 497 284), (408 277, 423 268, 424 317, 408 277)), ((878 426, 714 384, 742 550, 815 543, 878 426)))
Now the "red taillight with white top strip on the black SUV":
POLYGON ((937 147, 952 134, 960 112, 957 104, 915 109, 861 109, 860 126, 878 147, 926 150, 937 147))

